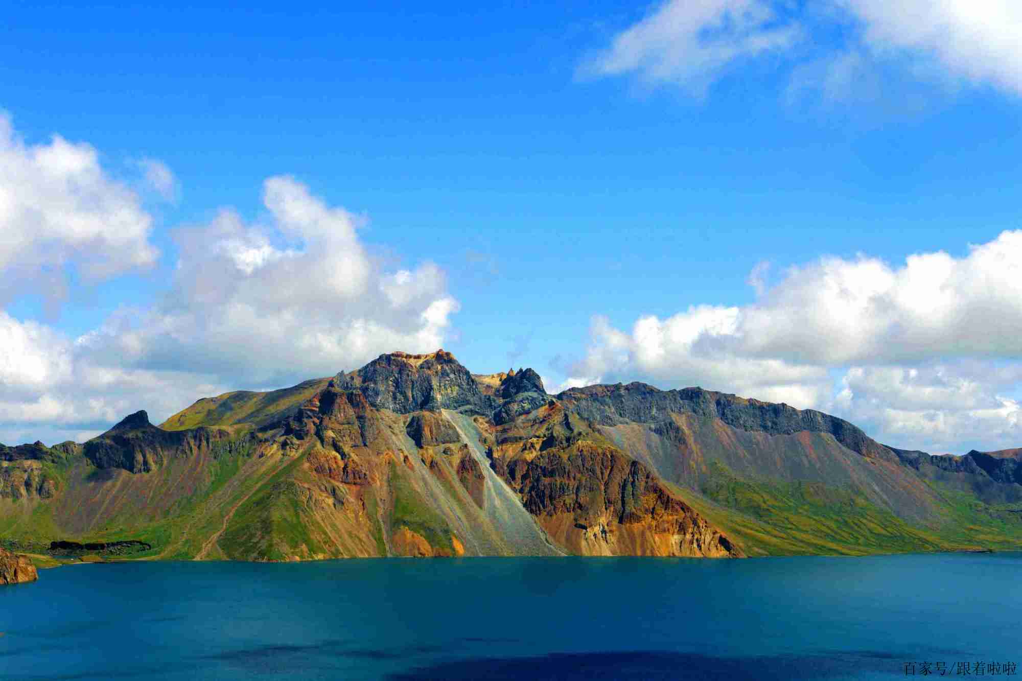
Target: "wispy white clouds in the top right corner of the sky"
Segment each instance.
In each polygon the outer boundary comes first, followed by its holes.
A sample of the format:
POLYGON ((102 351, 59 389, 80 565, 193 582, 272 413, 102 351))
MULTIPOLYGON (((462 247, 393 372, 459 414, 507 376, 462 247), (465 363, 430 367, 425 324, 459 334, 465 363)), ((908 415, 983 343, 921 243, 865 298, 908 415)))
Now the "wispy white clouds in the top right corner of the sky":
POLYGON ((667 0, 591 56, 583 73, 634 74, 694 94, 770 57, 798 87, 841 98, 894 66, 907 77, 1022 94, 1022 5, 1014 0, 667 0), (810 82, 811 81, 811 82, 810 82))

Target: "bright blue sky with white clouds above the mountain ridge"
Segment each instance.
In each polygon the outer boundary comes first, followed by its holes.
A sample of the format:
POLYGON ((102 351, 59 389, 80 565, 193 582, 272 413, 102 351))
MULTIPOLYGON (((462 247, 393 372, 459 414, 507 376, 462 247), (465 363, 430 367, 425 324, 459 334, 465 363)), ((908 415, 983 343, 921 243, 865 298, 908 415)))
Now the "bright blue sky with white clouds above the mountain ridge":
POLYGON ((1022 446, 1015 0, 18 4, 0 442, 444 348, 1022 446))

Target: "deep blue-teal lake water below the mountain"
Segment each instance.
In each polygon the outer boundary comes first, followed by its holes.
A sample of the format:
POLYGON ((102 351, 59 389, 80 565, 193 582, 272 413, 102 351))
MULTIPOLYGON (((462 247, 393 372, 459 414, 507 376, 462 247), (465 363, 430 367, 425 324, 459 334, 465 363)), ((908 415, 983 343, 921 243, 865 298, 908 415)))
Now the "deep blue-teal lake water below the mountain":
POLYGON ((0 588, 0 678, 951 676, 1020 620, 1020 553, 81 564, 0 588))

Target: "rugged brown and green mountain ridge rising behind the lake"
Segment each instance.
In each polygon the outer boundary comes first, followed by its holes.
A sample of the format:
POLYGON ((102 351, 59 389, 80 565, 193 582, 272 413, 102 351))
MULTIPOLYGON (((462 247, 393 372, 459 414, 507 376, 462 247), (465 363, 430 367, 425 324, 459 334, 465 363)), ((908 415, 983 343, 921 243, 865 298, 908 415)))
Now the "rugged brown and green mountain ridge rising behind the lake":
POLYGON ((443 350, 0 446, 0 543, 134 558, 867 554, 1022 547, 1022 450, 645 383, 548 395, 443 350), (72 548, 68 548, 72 547, 72 548))

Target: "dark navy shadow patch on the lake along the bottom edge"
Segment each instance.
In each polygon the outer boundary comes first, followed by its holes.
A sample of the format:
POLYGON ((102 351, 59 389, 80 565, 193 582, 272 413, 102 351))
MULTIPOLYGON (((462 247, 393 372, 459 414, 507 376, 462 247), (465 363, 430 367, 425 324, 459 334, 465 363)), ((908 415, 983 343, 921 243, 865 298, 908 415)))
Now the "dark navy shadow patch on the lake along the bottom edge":
POLYGON ((829 679, 864 673, 902 676, 904 663, 918 653, 873 650, 811 655, 724 657, 690 652, 635 650, 625 652, 557 652, 529 657, 471 657, 445 661, 391 674, 390 681, 445 679, 530 679, 532 681, 595 681, 619 679, 829 679))

